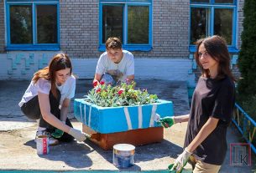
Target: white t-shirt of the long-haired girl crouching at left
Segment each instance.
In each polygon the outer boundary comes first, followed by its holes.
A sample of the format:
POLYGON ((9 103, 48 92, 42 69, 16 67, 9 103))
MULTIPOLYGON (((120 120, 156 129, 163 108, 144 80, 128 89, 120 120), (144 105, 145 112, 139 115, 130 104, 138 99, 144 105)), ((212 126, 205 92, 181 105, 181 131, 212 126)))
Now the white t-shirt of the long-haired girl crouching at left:
MULTIPOLYGON (((31 81, 28 89, 26 90, 24 96, 22 97, 18 105, 22 107, 24 103, 27 103, 30 99, 33 99, 34 96, 38 95, 38 92, 50 94, 50 87, 50 81, 46 79, 39 79, 35 84, 34 81, 31 81)), ((75 96, 76 78, 73 75, 71 75, 71 77, 65 81, 65 84, 62 84, 60 86, 56 85, 56 87, 60 90, 61 105, 64 99, 71 99, 75 96)))

